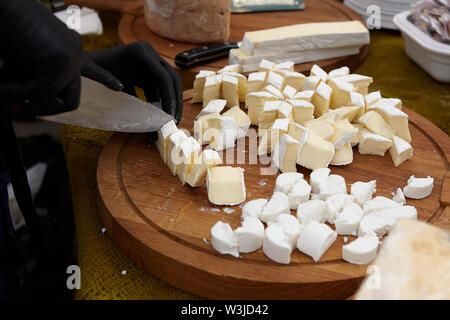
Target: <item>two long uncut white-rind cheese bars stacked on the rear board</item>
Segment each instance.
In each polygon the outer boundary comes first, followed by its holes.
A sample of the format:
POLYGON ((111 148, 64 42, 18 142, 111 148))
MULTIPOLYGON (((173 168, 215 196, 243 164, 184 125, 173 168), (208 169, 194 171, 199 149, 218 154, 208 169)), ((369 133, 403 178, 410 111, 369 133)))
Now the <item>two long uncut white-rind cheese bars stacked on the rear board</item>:
POLYGON ((230 51, 229 61, 241 72, 251 72, 262 59, 304 63, 354 55, 369 41, 369 31, 359 21, 296 24, 246 32, 240 48, 230 51))

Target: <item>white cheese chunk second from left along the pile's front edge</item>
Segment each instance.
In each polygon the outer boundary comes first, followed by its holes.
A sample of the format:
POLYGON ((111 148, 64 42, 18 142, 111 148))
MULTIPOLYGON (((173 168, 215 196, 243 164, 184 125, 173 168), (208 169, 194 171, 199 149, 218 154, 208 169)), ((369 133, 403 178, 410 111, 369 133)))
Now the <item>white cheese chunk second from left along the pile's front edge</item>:
POLYGON ((242 225, 234 230, 239 252, 249 253, 262 247, 264 241, 264 225, 256 217, 246 217, 242 225))

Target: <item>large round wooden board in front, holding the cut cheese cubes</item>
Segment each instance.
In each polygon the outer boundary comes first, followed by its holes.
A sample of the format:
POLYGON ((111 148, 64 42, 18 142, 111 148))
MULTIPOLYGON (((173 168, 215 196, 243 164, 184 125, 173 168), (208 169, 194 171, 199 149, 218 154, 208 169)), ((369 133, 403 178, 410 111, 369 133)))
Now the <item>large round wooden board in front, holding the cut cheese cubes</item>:
MULTIPOLYGON (((192 132, 201 104, 192 104, 192 91, 184 94, 185 105, 179 127, 192 132)), ((422 200, 407 200, 417 208, 419 219, 450 228, 450 138, 434 124, 404 108, 409 115, 414 157, 394 167, 384 157, 354 152, 354 162, 330 166, 342 175, 348 188, 356 181, 377 180, 377 193, 391 197, 411 175, 432 176, 433 193, 422 200)), ((247 139, 248 140, 248 139, 247 139)), ((234 151, 232 164, 245 169, 247 201, 269 198, 277 175, 262 176, 249 164, 245 153, 234 151)), ((310 170, 298 166, 309 180, 310 170)), ((209 203, 205 186, 182 186, 171 175, 154 146, 143 134, 115 134, 98 161, 99 212, 112 241, 138 266, 169 284, 204 298, 215 299, 342 299, 352 295, 365 276, 367 266, 341 259, 343 236, 318 263, 294 250, 291 264, 280 265, 262 250, 242 258, 220 255, 211 247, 210 229, 218 221, 240 224, 239 206, 209 203), (227 214, 224 208, 234 212, 227 214)), ((294 213, 294 211, 292 211, 294 213)), ((348 237, 352 241, 354 237, 348 237)))

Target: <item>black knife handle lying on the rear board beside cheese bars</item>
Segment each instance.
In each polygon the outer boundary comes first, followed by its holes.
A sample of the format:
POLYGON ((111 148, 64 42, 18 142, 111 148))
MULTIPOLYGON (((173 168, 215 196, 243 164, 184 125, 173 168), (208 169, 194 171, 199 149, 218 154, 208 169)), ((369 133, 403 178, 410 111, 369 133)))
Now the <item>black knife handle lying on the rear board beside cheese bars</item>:
POLYGON ((205 44, 177 54, 175 64, 180 68, 189 69, 206 62, 225 58, 228 56, 228 52, 235 48, 239 48, 238 42, 205 44))

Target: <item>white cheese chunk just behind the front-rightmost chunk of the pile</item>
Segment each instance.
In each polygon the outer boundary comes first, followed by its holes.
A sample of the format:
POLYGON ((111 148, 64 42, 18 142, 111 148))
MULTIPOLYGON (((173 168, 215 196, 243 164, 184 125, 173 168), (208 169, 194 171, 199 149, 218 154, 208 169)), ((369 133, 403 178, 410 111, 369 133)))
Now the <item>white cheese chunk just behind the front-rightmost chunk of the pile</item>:
POLYGON ((396 219, 375 211, 362 217, 359 222, 358 237, 377 235, 382 238, 395 225, 396 219))

